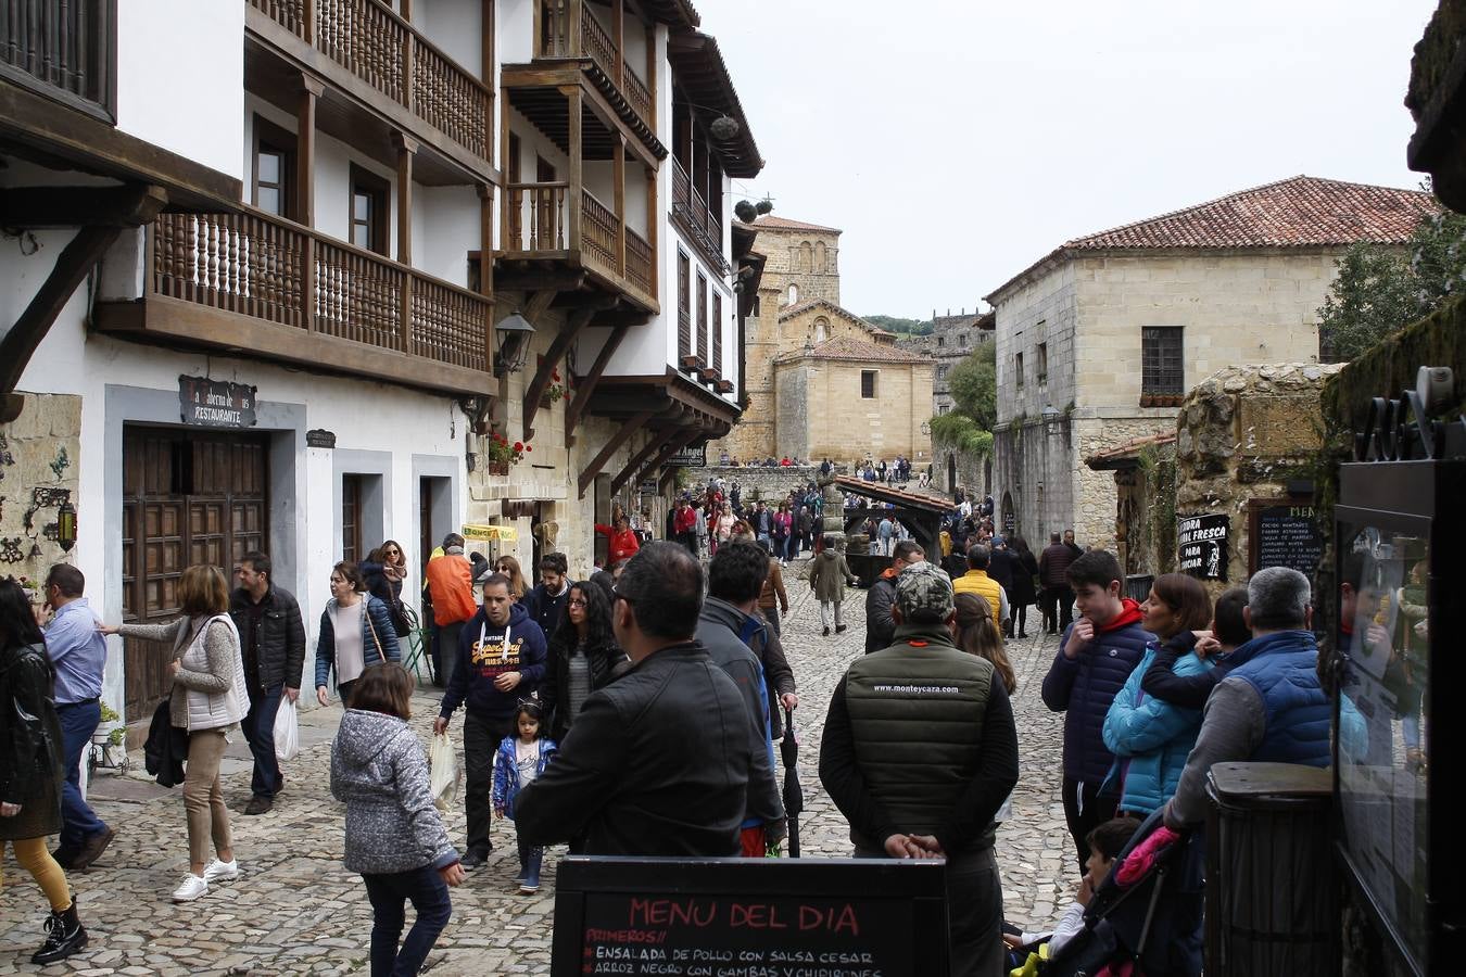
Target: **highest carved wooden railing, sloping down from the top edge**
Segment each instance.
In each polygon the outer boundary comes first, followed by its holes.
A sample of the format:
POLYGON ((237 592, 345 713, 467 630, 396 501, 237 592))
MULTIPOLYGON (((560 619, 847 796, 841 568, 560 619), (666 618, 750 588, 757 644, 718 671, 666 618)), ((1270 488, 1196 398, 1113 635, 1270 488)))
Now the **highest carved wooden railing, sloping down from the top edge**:
POLYGON ((249 0, 469 152, 490 157, 493 92, 381 0, 249 0))

